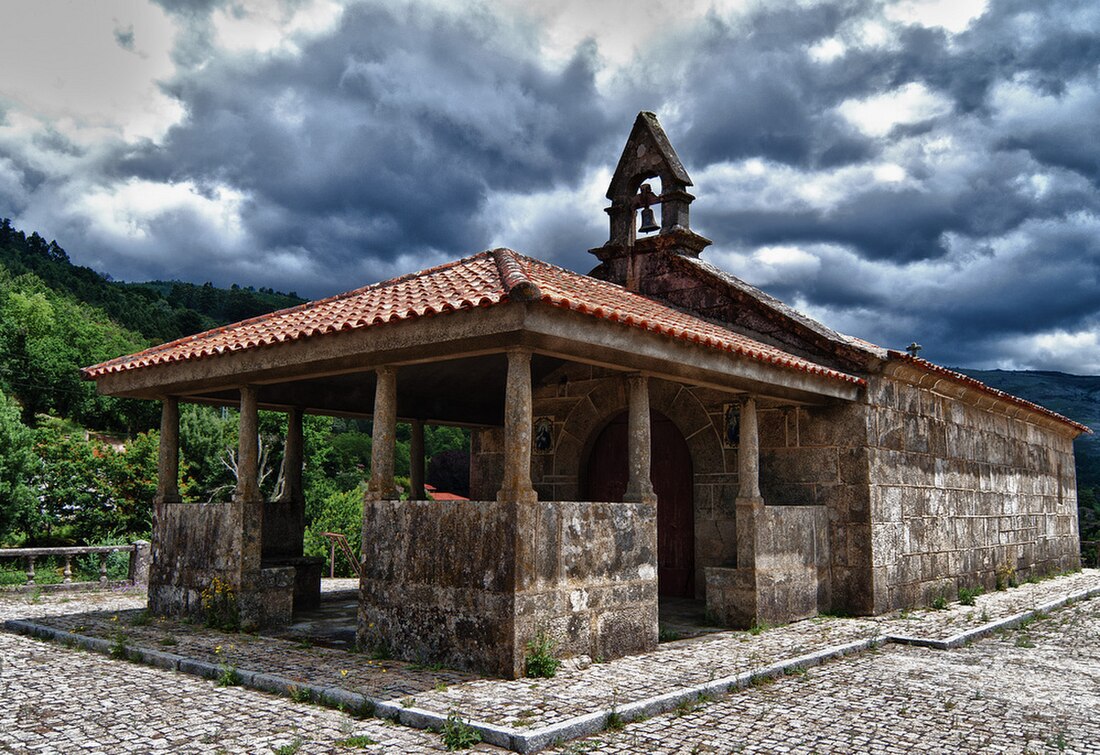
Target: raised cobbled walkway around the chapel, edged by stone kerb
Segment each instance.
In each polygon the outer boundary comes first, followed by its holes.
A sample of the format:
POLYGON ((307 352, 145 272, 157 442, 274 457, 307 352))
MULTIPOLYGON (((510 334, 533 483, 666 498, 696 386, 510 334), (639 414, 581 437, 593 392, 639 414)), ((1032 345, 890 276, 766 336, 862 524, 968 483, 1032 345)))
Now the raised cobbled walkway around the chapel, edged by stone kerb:
MULTIPOLYGON (((187 659, 190 670, 217 676, 219 669, 232 665, 253 683, 284 694, 309 691, 315 698, 355 708, 369 699, 378 714, 409 725, 436 726, 459 711, 480 727, 486 741, 532 752, 559 738, 600 731, 613 713, 627 721, 652 715, 701 696, 800 672, 835 655, 873 647, 890 635, 931 644, 961 632, 990 631, 999 622, 1019 622, 1059 598, 1089 592, 1100 592, 1100 571, 981 595, 975 606, 871 619, 820 617, 760 633, 726 632, 666 643, 654 653, 607 664, 568 664, 554 679, 516 681, 479 679, 180 622, 144 623, 143 612, 135 608, 140 597, 84 613, 65 614, 55 605, 34 623, 90 637, 100 649, 113 644, 167 655, 168 668, 184 668, 180 659, 187 659)), ((151 659, 156 663, 155 657, 151 659)))

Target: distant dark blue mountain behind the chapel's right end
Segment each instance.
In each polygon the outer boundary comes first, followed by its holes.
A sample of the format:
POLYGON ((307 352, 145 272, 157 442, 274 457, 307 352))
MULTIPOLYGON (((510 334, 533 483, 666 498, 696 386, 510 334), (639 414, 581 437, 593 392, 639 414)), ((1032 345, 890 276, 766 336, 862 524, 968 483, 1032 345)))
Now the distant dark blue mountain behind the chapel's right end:
POLYGON ((1081 538, 1100 539, 1100 375, 953 369, 1092 428, 1093 435, 1080 436, 1074 442, 1074 450, 1081 538))

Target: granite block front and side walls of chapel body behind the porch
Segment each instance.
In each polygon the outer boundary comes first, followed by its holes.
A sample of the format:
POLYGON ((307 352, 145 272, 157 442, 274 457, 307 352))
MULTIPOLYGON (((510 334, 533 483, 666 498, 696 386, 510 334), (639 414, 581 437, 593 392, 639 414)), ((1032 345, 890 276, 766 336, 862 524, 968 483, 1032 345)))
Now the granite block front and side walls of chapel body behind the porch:
MULTIPOLYGON (((757 612, 768 613, 770 580, 789 592, 802 584, 817 611, 873 614, 952 598, 960 587, 992 589, 998 570, 1025 579, 1079 566, 1068 430, 1025 412, 1009 416, 990 397, 871 375, 862 402, 759 407, 761 524, 788 534, 758 544, 760 576, 740 584, 728 571, 737 560, 737 449, 722 442, 733 398, 650 380, 651 408, 675 424, 692 457, 696 598, 708 586, 752 589, 757 612), (801 566, 792 538, 814 549, 801 566)), ((583 495, 592 444, 626 405, 623 375, 596 368, 570 364, 536 386, 535 416, 553 426, 551 451, 532 458, 540 499, 583 495)), ((473 495, 493 497, 499 430, 474 433, 472 448, 473 495)), ((771 602, 804 615, 809 603, 792 595, 773 590, 771 602)))

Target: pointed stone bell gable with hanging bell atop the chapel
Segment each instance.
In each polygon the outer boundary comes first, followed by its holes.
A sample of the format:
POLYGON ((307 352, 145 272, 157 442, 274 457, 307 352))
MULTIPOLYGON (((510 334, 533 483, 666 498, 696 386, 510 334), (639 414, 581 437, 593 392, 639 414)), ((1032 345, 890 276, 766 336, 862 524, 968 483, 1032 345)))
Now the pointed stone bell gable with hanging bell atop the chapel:
POLYGON ((607 188, 610 238, 588 250, 601 262, 591 275, 648 293, 646 281, 667 266, 668 255, 698 256, 711 241, 691 230, 689 208, 695 198, 688 193, 691 185, 657 116, 639 112, 607 188), (646 183, 650 178, 660 178, 660 194, 646 183), (660 226, 654 205, 660 206, 660 226))

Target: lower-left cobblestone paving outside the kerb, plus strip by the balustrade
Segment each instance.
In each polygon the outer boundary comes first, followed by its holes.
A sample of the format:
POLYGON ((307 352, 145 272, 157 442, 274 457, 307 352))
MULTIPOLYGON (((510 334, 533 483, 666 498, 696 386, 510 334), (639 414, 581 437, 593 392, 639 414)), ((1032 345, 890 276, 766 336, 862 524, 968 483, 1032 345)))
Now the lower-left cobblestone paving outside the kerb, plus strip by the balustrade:
MULTIPOLYGON (((140 593, 79 593, 29 602, 8 594, 0 595, 0 619, 134 610, 144 600, 140 593)), ((433 732, 0 632, 6 755, 440 751, 446 748, 433 732), (362 736, 367 740, 352 738, 362 736)), ((504 752, 485 745, 479 751, 504 752)))

